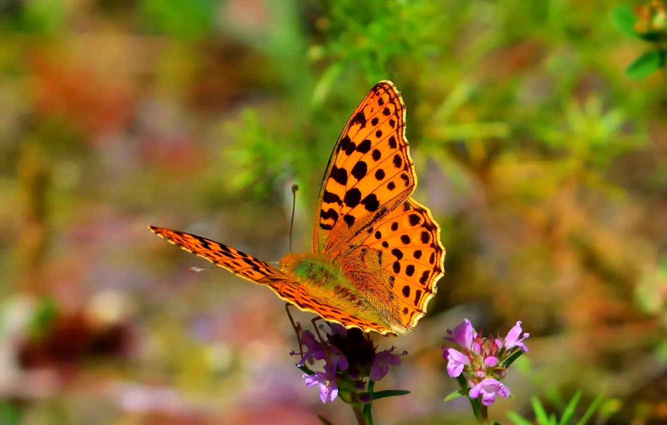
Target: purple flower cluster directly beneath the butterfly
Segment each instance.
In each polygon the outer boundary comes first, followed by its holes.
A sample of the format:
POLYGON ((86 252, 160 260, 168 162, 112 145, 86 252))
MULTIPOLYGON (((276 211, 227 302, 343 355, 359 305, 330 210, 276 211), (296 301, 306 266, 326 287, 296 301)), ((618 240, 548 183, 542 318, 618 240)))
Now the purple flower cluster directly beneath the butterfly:
MULTIPOLYGON (((381 380, 387 375, 390 365, 401 364, 401 356, 408 354, 407 351, 394 354, 396 348, 393 346, 376 352, 378 347, 361 330, 348 330, 340 324, 329 326, 331 330, 324 342, 309 330, 301 332, 300 342, 306 350, 297 363, 299 368, 304 368, 306 363, 312 365, 315 360, 325 360, 323 372, 303 374, 307 386, 319 386, 323 403, 335 400, 339 391, 364 392, 368 380, 381 380)), ((297 326, 297 329, 300 330, 300 327, 297 326)))

